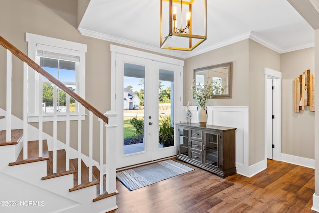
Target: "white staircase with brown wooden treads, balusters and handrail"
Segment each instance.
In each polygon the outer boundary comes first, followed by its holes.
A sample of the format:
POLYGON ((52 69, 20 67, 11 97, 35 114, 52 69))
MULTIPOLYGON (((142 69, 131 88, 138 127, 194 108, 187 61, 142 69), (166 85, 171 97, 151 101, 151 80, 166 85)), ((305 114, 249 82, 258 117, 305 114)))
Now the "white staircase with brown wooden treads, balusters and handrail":
MULTIPOLYGON (((24 53, 0 36, 0 44, 7 50, 7 92, 6 110, 0 108, 0 212, 3 213, 105 213, 116 206, 116 168, 115 152, 103 155, 103 150, 111 150, 115 136, 116 114, 102 114, 92 105, 73 93, 24 53), (24 69, 21 75, 27 78, 27 68, 31 67, 49 79, 54 85, 66 92, 77 104, 89 110, 89 129, 82 128, 82 120, 78 119, 78 132, 89 132, 89 156, 82 154, 81 134, 78 135, 77 149, 71 148, 69 139, 66 142, 57 140, 57 119, 53 121, 53 137, 42 131, 42 119, 38 128, 27 122, 27 111, 23 119, 11 113, 11 76, 12 54, 19 58, 24 69), (93 156, 92 120, 100 123, 100 153, 93 156), (103 127, 106 128, 106 138, 103 127), (106 144, 106 147, 103 145, 106 144), (94 159, 99 159, 99 162, 94 159), (110 162, 104 164, 104 162, 110 162), (102 171, 102 172, 101 172, 102 171), (104 174, 105 173, 105 174, 104 174), (107 177, 107 178, 106 178, 107 177)), ((1 59, 0 59, 1 61, 1 59)), ((5 77, 0 70, 0 76, 5 77)), ((27 79, 24 80, 27 90, 27 79)), ((42 90, 42 88, 40 88, 42 90)), ((27 91, 24 91, 23 109, 27 108, 27 91)), ((42 104, 42 102, 40 102, 42 104)), ((67 113, 68 114, 68 109, 67 113)), ((55 113, 54 113, 55 114, 55 113)), ((39 116, 42 116, 39 113, 39 116)), ((66 116, 68 118, 68 116, 66 116)), ((70 122, 70 121, 66 121, 70 122)), ((68 130, 67 134, 70 134, 68 130)))

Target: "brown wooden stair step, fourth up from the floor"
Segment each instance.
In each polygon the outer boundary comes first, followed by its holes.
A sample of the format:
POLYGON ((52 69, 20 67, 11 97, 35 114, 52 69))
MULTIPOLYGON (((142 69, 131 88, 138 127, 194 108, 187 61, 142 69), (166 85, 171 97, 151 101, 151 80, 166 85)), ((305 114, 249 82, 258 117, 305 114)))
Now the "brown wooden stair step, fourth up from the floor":
POLYGON ((22 148, 16 161, 9 163, 9 166, 49 160, 49 151, 48 151, 47 140, 43 140, 43 156, 41 158, 39 158, 39 143, 38 143, 38 141, 28 141, 28 159, 26 159, 26 160, 23 160, 23 149, 24 149, 24 147, 22 148))

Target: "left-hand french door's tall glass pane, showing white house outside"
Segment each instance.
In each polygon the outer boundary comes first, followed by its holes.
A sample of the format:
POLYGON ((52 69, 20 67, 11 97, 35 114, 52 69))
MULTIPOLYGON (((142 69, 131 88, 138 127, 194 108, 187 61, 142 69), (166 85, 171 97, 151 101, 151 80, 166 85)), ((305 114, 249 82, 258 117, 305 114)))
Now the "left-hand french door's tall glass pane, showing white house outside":
POLYGON ((144 78, 145 66, 124 63, 124 155, 145 151, 144 78))

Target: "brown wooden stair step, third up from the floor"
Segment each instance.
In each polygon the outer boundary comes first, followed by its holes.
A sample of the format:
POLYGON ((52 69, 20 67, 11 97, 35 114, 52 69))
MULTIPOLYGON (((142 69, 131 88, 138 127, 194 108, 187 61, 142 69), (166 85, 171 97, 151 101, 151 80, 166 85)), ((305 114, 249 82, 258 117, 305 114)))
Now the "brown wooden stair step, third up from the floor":
POLYGON ((63 175, 73 174, 76 172, 74 166, 70 164, 70 170, 65 170, 65 150, 57 150, 56 152, 57 162, 56 162, 56 173, 53 173, 53 151, 49 151, 49 160, 47 161, 47 176, 42 177, 42 180, 55 178, 63 175))

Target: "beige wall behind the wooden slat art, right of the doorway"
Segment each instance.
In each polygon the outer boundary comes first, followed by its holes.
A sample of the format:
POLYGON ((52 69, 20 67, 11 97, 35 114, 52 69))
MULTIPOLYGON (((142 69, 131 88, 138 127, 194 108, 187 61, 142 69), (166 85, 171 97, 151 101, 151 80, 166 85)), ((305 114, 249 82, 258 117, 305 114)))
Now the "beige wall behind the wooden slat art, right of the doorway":
POLYGON ((281 54, 282 153, 314 159, 314 116, 309 107, 294 112, 294 78, 314 72, 314 48, 281 54))

